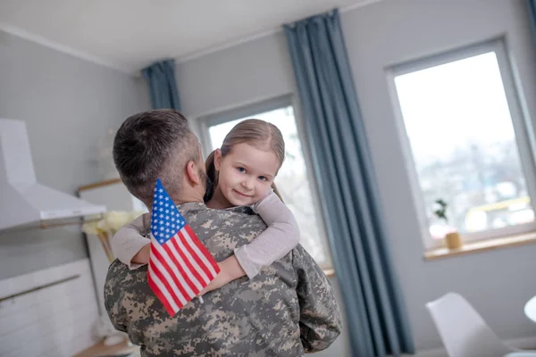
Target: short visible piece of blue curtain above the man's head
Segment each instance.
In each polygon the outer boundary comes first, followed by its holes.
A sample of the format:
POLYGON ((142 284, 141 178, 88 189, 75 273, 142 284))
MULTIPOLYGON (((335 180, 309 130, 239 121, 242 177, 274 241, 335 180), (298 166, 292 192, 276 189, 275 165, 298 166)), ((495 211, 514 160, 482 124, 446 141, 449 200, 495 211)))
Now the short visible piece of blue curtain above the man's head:
POLYGON ((179 92, 175 82, 175 61, 155 62, 141 71, 147 79, 153 109, 180 110, 179 92))

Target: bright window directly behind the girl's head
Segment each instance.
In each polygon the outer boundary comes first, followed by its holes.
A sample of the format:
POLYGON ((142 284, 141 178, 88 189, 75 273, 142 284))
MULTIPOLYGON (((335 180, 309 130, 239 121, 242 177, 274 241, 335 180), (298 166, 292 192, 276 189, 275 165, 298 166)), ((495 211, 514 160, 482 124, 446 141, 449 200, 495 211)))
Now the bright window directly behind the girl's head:
POLYGON ((283 200, 296 217, 301 231, 301 245, 322 268, 330 268, 331 258, 327 249, 321 213, 314 200, 311 174, 306 169, 294 110, 288 97, 202 118, 200 134, 205 154, 220 147, 230 129, 240 121, 249 118, 268 121, 281 130, 285 139, 286 158, 275 183, 283 200))

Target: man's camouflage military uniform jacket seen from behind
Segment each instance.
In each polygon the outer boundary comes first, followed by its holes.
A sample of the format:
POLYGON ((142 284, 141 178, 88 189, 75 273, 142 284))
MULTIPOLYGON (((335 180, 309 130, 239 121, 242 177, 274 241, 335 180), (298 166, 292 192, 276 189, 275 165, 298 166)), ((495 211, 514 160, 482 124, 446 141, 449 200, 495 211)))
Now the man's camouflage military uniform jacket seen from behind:
MULTIPOLYGON (((178 208, 217 262, 266 228, 248 207, 178 208)), ((106 277, 108 315, 142 356, 294 357, 327 348, 341 329, 331 283, 301 245, 255 278, 234 280, 204 300, 170 318, 147 285, 147 266, 129 270, 116 260, 106 277)))

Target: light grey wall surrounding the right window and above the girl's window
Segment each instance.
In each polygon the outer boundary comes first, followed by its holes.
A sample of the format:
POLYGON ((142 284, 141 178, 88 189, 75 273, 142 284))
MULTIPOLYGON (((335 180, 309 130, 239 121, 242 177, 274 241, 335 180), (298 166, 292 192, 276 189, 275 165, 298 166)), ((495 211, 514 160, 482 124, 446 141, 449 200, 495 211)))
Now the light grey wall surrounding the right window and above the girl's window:
MULTIPOLYGON (((423 261, 385 73, 392 64, 505 35, 524 95, 536 97, 536 56, 523 0, 385 0, 344 12, 342 22, 417 348, 440 346, 424 303, 448 291, 465 295, 499 336, 533 336, 536 325, 523 316, 523 303, 536 294, 536 246, 423 261)), ((296 93, 281 32, 179 63, 177 79, 190 118, 296 93)), ((536 118, 533 102, 529 110, 536 118)), ((348 355, 347 340, 343 336, 325 355, 348 355)))

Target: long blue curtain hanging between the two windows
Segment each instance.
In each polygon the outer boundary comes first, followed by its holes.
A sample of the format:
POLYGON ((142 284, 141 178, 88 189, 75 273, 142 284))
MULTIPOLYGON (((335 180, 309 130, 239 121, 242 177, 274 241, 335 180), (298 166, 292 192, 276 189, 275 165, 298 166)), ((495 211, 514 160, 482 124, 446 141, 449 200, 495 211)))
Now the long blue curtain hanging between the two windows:
POLYGON ((284 30, 346 305, 351 355, 415 353, 339 11, 284 30))

